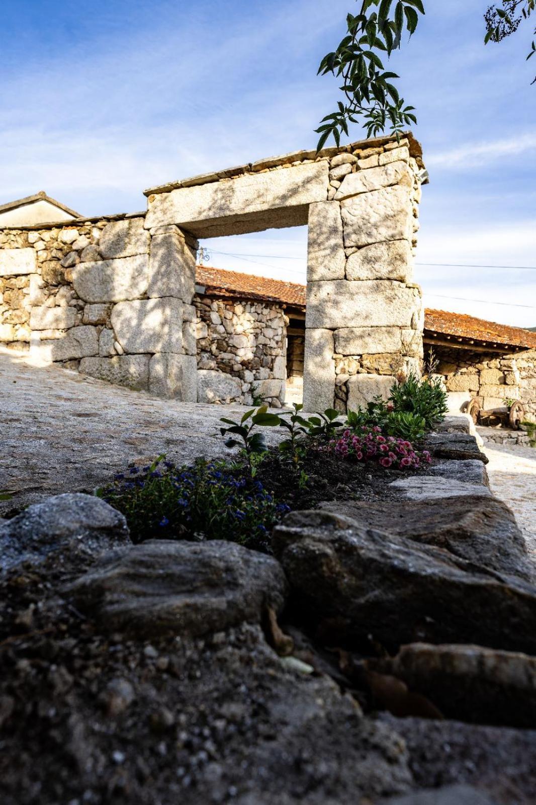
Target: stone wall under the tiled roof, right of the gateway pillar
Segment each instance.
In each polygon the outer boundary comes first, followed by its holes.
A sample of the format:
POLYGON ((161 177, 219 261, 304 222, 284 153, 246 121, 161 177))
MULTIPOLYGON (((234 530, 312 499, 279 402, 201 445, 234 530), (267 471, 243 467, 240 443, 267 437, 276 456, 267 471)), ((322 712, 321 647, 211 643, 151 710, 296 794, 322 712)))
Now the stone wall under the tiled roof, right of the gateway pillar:
POLYGON ((472 398, 484 410, 518 399, 527 419, 536 422, 536 350, 497 355, 442 346, 434 348, 434 354, 452 410, 461 410, 472 398))

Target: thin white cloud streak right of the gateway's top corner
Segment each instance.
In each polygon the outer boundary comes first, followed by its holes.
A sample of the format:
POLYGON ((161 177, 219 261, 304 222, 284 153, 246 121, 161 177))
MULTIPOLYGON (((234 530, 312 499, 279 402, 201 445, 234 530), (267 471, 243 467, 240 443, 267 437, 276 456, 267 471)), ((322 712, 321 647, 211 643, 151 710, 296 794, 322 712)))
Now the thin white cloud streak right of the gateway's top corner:
POLYGON ((493 159, 516 157, 534 151, 536 134, 515 134, 512 137, 490 142, 468 142, 448 151, 438 151, 426 155, 427 167, 480 167, 493 159))

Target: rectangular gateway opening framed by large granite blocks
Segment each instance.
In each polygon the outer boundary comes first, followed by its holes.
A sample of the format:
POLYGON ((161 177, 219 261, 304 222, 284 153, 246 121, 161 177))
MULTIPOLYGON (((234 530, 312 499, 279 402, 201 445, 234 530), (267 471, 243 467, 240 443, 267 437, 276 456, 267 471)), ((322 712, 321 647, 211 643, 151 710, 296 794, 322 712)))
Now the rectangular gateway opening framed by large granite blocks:
POLYGON ((194 304, 207 402, 301 402, 306 281, 307 226, 200 240, 194 304))

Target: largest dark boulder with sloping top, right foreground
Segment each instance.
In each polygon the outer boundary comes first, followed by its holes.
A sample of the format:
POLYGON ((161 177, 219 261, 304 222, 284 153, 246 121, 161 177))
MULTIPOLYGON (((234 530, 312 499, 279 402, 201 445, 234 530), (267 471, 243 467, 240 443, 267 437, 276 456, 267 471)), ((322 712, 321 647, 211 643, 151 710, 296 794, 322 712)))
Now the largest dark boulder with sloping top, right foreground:
POLYGON ((506 583, 443 548, 320 511, 287 515, 273 547, 303 617, 311 626, 328 619, 333 641, 373 635, 384 646, 421 640, 536 650, 536 588, 513 577, 506 583))

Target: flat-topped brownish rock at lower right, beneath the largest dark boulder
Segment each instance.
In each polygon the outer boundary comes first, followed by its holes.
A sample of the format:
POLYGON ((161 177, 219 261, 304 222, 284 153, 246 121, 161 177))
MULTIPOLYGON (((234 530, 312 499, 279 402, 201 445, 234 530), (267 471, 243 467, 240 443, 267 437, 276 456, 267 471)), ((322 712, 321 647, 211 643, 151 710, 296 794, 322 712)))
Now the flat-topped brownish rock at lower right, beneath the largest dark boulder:
POLYGON ((530 729, 536 724, 536 658, 482 646, 402 646, 369 667, 402 679, 447 718, 530 729))

